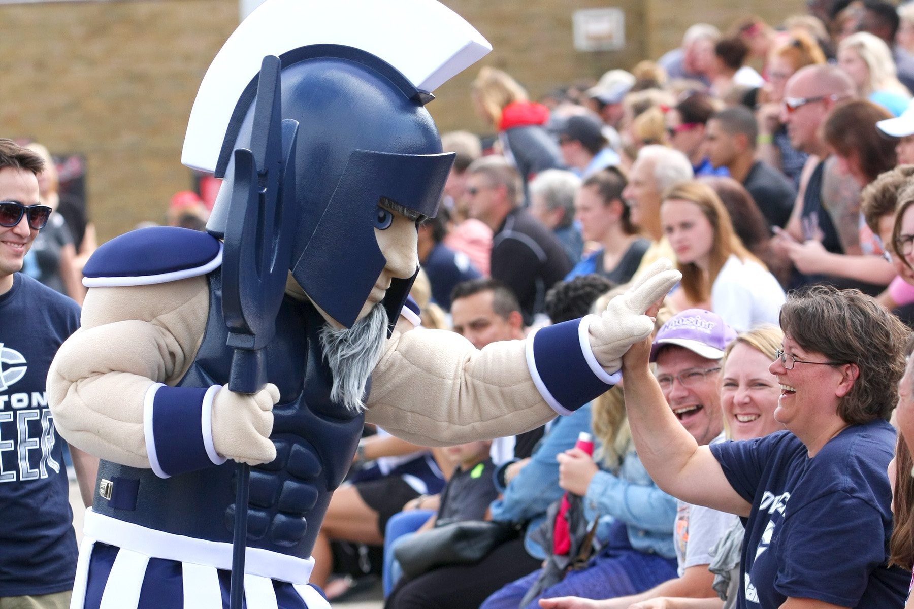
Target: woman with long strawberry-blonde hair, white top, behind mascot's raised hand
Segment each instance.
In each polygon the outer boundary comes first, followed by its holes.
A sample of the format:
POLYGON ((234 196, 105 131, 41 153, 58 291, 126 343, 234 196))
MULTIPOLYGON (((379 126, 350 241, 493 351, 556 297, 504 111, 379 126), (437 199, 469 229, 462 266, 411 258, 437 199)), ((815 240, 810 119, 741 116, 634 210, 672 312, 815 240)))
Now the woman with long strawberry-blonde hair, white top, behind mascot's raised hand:
POLYGON ((736 331, 777 323, 784 290, 739 240, 713 188, 696 180, 674 184, 660 219, 683 274, 671 296, 678 310, 712 310, 736 331))

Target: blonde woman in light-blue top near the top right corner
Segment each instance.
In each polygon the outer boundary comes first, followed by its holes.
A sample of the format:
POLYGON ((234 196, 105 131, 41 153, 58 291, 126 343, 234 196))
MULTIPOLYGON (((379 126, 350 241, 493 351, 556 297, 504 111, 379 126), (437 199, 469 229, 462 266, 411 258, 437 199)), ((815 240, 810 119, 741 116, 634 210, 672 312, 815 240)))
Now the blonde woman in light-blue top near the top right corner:
POLYGON ((869 32, 846 37, 838 45, 838 67, 854 80, 860 97, 895 116, 908 107, 911 94, 898 80, 892 51, 882 38, 869 32))

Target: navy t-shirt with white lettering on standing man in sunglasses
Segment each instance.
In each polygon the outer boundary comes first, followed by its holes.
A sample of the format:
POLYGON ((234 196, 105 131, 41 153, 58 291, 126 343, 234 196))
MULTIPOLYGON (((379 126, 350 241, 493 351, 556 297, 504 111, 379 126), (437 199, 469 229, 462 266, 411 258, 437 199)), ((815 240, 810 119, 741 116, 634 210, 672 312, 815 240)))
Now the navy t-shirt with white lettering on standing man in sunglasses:
POLYGON ((69 480, 45 383, 79 325, 76 302, 21 273, 0 295, 0 597, 73 587, 69 480))

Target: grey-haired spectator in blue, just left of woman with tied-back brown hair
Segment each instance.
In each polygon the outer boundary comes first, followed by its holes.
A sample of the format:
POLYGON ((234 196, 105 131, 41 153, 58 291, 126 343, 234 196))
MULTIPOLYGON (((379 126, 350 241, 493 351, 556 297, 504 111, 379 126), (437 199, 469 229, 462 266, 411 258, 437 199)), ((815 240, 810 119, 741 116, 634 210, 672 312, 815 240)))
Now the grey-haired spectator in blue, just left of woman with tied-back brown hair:
POLYGON ((571 264, 578 264, 584 239, 574 223, 574 197, 580 178, 561 169, 547 169, 530 183, 530 214, 552 230, 571 264))

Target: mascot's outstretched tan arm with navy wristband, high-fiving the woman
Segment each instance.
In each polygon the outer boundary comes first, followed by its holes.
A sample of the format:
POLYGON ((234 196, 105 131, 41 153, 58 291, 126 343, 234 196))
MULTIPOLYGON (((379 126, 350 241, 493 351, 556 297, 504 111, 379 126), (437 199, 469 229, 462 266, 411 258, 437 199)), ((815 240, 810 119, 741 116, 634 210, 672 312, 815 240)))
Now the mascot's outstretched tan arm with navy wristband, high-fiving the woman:
POLYGON ((622 354, 654 330, 644 311, 680 277, 662 258, 600 316, 542 329, 525 341, 494 342, 481 351, 453 332, 394 332, 372 376, 366 420, 433 446, 512 435, 542 425, 557 412, 568 414, 617 382, 610 373, 621 368, 622 354), (547 332, 558 336, 547 337, 547 332), (558 352, 564 349, 571 353, 558 352), (586 371, 575 365, 576 358, 588 359, 584 351, 593 356, 586 371), (566 363, 572 369, 562 370, 566 363), (597 365, 603 376, 593 370, 597 365), (567 384, 565 373, 568 383, 590 385, 592 392, 568 391, 561 386, 567 384))

